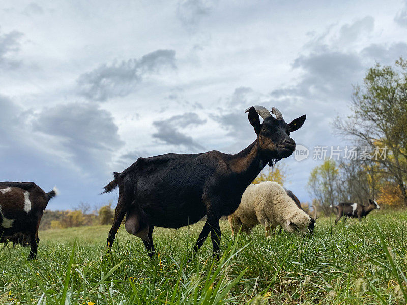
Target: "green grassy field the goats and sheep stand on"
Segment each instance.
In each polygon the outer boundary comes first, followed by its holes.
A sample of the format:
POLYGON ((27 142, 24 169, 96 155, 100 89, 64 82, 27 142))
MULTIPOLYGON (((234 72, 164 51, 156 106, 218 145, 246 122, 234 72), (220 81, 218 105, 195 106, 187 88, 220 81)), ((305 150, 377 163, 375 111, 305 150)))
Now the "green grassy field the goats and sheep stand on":
POLYGON ((257 226, 236 241, 222 222, 220 260, 210 238, 191 254, 201 222, 156 228, 154 260, 124 226, 111 254, 108 226, 42 231, 37 260, 20 246, 0 252, 0 304, 405 303, 407 215, 332 222, 318 219, 312 238, 265 238, 257 226))

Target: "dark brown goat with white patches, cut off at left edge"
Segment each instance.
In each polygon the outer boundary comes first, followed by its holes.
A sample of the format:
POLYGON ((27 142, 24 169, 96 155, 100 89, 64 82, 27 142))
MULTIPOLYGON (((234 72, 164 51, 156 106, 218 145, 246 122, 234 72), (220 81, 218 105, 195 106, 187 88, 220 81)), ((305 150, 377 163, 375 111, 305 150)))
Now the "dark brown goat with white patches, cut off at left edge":
POLYGON ((38 227, 56 187, 45 193, 33 182, 0 182, 0 242, 30 243, 28 259, 35 259, 40 239, 38 227))

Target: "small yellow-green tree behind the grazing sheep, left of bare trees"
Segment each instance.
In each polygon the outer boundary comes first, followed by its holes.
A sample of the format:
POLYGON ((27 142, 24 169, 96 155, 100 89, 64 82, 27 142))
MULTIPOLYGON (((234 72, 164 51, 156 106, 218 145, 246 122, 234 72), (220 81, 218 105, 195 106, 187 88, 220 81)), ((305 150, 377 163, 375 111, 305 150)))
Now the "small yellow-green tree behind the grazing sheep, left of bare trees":
POLYGON ((318 202, 318 207, 325 215, 331 214, 331 204, 334 204, 338 196, 339 170, 334 160, 326 160, 316 166, 308 180, 308 190, 311 196, 318 202))

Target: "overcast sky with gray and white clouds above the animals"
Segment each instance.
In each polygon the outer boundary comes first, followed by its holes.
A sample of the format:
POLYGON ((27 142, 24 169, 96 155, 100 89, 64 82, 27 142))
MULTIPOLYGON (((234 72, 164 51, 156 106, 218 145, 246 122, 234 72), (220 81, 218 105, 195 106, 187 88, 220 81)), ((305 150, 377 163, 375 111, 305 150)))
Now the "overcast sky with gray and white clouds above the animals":
MULTIPOLYGON (((248 146, 252 105, 307 114, 297 144, 345 145, 352 84, 406 38, 403 1, 3 0, 0 180, 56 185, 50 209, 117 200, 98 194, 138 157, 248 146)), ((321 161, 280 162, 310 200, 321 161)))

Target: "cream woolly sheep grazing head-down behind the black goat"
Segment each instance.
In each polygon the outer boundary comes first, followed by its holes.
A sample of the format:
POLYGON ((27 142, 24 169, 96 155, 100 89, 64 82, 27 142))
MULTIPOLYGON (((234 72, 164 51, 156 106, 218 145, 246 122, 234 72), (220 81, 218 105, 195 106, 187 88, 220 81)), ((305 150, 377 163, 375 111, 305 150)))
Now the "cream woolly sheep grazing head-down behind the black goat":
POLYGON ((236 211, 228 217, 232 234, 239 230, 251 234, 254 226, 261 224, 270 236, 270 227, 274 235, 280 225, 289 233, 308 233, 311 218, 299 209, 285 189, 277 182, 251 184, 242 195, 242 201, 236 211))

